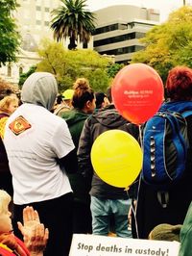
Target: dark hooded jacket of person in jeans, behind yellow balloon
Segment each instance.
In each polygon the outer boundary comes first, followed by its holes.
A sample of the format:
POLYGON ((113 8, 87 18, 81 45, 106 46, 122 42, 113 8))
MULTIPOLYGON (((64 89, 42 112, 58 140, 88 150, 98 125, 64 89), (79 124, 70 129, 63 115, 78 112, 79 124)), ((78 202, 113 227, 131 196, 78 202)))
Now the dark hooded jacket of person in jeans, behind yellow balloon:
MULTIPOLYGON (((78 149, 79 169, 84 174, 84 177, 89 180, 92 179, 91 195, 104 199, 127 199, 128 194, 124 189, 105 183, 94 172, 91 165, 90 152, 93 142, 99 135, 111 129, 123 130, 132 134, 134 138, 138 138, 138 127, 119 115, 114 105, 109 105, 99 113, 89 116, 84 122, 78 149)), ((112 146, 112 141, 108 146, 112 146)), ((132 189, 129 190, 129 195, 132 196, 132 189)))

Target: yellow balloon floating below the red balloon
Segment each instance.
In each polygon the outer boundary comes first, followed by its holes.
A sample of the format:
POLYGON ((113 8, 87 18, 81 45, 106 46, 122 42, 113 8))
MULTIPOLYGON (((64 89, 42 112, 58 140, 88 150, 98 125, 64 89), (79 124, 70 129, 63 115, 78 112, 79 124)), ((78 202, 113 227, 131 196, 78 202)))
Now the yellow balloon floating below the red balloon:
POLYGON ((127 132, 110 130, 101 134, 91 148, 91 163, 97 175, 117 188, 128 188, 142 166, 139 143, 127 132))

